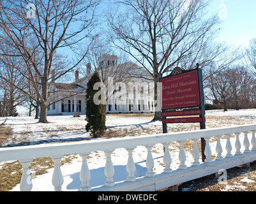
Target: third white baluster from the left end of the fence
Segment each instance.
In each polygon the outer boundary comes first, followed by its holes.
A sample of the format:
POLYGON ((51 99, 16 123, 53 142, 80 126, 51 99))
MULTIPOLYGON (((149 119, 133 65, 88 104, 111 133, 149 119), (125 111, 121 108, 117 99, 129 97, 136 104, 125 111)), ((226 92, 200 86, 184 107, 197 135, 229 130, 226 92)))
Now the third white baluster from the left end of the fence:
POLYGON ((89 185, 89 180, 91 179, 91 173, 87 164, 87 157, 89 153, 80 154, 82 157, 82 168, 80 171, 80 180, 82 181, 82 186, 80 187, 80 191, 91 191, 91 186, 89 185))

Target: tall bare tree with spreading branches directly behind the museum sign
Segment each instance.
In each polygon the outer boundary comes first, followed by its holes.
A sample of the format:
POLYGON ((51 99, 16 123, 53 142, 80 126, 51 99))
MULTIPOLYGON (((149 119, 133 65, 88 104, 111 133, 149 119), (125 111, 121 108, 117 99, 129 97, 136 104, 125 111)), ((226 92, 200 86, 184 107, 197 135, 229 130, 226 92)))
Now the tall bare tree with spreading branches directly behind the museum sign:
MULTIPOLYGON (((221 45, 211 43, 219 19, 216 15, 204 18, 209 1, 121 0, 118 3, 126 10, 108 16, 110 40, 154 78, 155 101, 157 83, 163 73, 178 65, 189 69, 195 68, 197 62, 209 64, 223 51, 221 45)), ((160 116, 156 112, 153 120, 159 120, 160 116)))

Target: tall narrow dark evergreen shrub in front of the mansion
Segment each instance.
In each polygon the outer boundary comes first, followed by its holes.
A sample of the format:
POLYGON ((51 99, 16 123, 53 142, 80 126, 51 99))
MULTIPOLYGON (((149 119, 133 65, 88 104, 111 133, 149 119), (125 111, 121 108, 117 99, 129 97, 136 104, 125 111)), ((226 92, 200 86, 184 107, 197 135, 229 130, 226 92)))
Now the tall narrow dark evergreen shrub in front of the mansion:
POLYGON ((95 105, 93 97, 98 90, 93 90, 95 83, 100 82, 100 76, 97 72, 93 74, 86 89, 86 131, 90 131, 94 138, 98 138, 105 133, 107 129, 105 105, 95 105))

